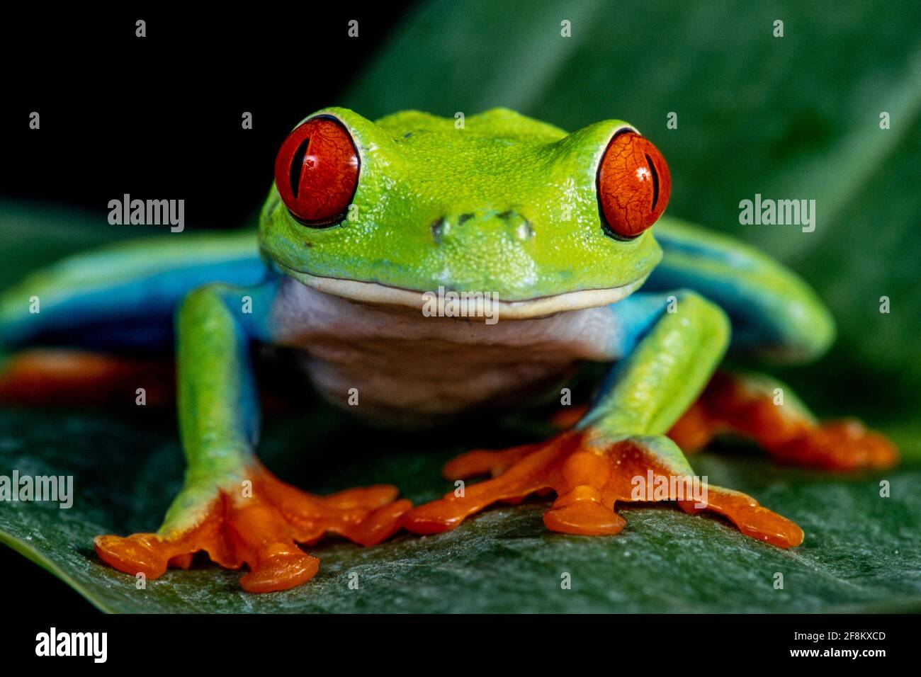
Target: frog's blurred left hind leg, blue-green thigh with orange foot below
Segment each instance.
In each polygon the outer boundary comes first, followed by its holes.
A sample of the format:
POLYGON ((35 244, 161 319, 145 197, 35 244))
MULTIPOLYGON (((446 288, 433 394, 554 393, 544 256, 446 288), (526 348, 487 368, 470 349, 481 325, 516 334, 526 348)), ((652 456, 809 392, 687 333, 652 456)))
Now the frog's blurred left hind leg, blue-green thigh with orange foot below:
POLYGON ((129 239, 34 271, 0 293, 0 401, 134 404, 143 388, 170 403, 181 298, 267 274, 251 232, 129 239))

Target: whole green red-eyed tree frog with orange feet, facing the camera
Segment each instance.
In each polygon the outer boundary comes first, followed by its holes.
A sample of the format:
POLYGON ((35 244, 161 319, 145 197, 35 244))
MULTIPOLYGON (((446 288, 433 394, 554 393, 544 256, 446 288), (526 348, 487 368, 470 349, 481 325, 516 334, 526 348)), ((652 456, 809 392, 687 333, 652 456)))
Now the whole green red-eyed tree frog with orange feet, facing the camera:
POLYGON ((799 526, 752 496, 708 481, 682 491, 697 478, 688 457, 727 434, 828 472, 888 467, 898 451, 729 366, 815 360, 834 319, 763 252, 663 216, 670 193, 657 146, 621 120, 567 133, 502 108, 374 122, 324 108, 280 146, 257 232, 129 239, 7 290, 0 335, 18 352, 0 396, 105 391, 137 377, 125 355, 174 346, 181 489, 157 531, 94 541, 101 562, 135 577, 204 551, 245 566, 244 590, 290 589, 316 575, 309 551, 326 535, 371 546, 437 534, 528 496, 552 497, 542 519, 554 532, 613 536, 627 526, 617 508, 668 501, 765 547, 798 546, 799 526), (437 290, 454 294, 453 311, 431 311, 437 290), (548 397, 561 414, 541 442, 449 461, 455 488, 422 505, 391 484, 310 494, 258 460, 260 345, 291 351, 363 425, 437 431, 548 397), (605 375, 571 405, 566 384, 587 365, 605 375))

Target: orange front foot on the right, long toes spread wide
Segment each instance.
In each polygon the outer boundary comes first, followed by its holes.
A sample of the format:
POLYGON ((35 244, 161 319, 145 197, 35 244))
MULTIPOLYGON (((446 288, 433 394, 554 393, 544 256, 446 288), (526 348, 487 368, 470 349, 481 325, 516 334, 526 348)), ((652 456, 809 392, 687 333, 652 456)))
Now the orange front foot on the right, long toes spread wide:
POLYGON ((626 524, 617 502, 678 501, 689 512, 723 515, 752 538, 791 547, 803 533, 790 520, 758 505, 751 496, 675 473, 670 459, 680 450, 667 438, 605 440, 589 428, 569 430, 545 443, 504 451, 472 451, 450 461, 450 479, 476 473, 494 478, 464 486, 409 510, 402 525, 416 533, 454 529, 463 519, 495 502, 515 503, 531 494, 554 491, 553 507, 543 516, 552 531, 580 535, 614 534, 626 524))

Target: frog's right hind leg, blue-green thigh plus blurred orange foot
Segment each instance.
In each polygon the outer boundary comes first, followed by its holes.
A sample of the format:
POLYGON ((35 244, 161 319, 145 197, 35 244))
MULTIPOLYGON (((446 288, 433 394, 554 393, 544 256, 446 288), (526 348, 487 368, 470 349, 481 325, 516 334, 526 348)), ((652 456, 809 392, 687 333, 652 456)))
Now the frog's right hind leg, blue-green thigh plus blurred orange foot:
MULTIPOLYGON (((730 353, 791 364, 821 356, 834 340, 828 309, 780 263, 675 219, 660 219, 656 231, 664 257, 645 288, 686 287, 716 302, 732 322, 730 353)), ((789 389, 763 376, 718 374, 670 434, 694 449, 720 432, 754 438, 778 461, 798 465, 850 470, 896 460, 886 438, 856 421, 818 423, 789 389), (775 403, 778 388, 783 404, 775 403)))

